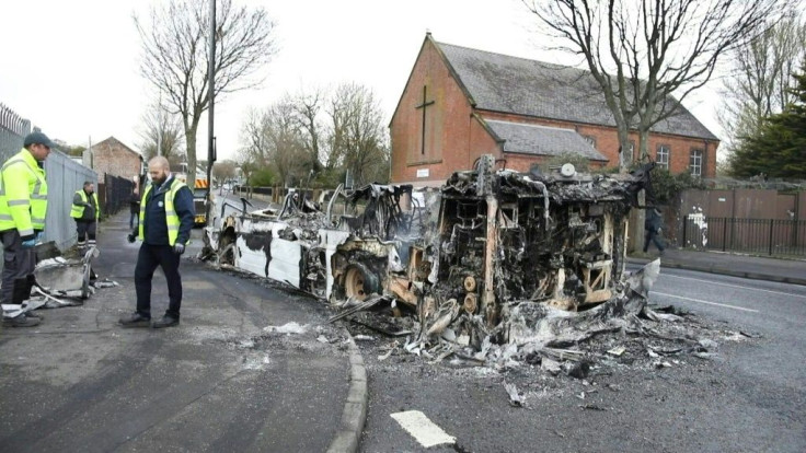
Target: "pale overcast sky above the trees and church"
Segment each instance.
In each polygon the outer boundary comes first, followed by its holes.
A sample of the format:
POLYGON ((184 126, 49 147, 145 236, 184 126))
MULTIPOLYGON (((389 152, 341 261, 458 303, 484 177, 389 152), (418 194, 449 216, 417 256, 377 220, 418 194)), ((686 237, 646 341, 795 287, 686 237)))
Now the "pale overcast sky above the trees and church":
MULTIPOLYGON (((133 14, 160 0, 24 0, 0 7, 0 103, 51 139, 87 144, 114 136, 139 150, 140 118, 153 90, 139 74, 133 14)), ((244 1, 244 0, 234 0, 244 1)), ((441 43, 573 65, 544 42, 519 0, 247 0, 276 24, 278 53, 264 86, 216 104, 219 160, 234 158, 251 107, 284 93, 341 82, 369 86, 391 117, 426 31, 441 43)), ((712 85, 716 86, 715 83, 712 85)), ((684 102, 714 133, 714 90, 684 102)), ((198 156, 207 154, 207 119, 198 156)))

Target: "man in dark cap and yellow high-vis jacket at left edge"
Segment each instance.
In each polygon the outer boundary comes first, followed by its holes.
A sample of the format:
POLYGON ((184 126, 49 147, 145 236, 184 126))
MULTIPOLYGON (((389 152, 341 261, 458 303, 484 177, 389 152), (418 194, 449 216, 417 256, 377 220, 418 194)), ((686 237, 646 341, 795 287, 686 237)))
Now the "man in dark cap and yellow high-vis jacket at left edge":
MULTIPOLYGON (((0 170, 0 236, 3 241, 2 303, 21 304, 31 295, 36 267, 34 246, 45 230, 47 181, 44 163, 56 146, 42 132, 28 133, 23 149, 0 170)), ((27 312, 3 325, 31 327, 39 317, 27 312)))

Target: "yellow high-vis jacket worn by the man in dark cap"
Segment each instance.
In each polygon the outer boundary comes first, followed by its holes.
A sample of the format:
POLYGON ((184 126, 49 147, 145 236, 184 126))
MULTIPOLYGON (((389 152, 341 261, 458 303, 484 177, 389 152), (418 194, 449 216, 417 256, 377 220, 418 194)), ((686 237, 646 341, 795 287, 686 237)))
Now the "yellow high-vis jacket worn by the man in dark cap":
POLYGON ((21 236, 45 229, 47 181, 45 170, 26 149, 0 170, 0 231, 16 229, 21 236))

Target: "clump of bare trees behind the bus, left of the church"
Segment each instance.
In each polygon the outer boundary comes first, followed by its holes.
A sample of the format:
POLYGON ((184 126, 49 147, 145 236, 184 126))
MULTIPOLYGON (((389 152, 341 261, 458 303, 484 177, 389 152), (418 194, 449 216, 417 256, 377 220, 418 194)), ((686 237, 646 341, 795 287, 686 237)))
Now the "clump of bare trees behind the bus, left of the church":
POLYGON ((241 169, 270 166, 285 184, 357 184, 389 179, 389 133, 375 94, 355 83, 286 94, 265 111, 252 109, 241 129, 241 169))

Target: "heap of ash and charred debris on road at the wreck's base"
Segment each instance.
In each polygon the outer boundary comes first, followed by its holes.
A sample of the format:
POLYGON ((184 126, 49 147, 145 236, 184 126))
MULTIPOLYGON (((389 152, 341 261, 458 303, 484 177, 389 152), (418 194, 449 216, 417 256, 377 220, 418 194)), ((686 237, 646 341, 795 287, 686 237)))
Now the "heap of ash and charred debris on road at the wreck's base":
POLYGON ((521 301, 506 304, 502 322, 487 330, 479 315, 442 303, 430 324, 394 317, 393 309, 358 312, 348 329, 365 353, 379 362, 428 363, 514 370, 587 379, 624 368, 664 369, 681 361, 710 360, 723 341, 755 337, 710 323, 675 306, 648 303, 659 262, 630 276, 618 297, 583 312, 521 301))

